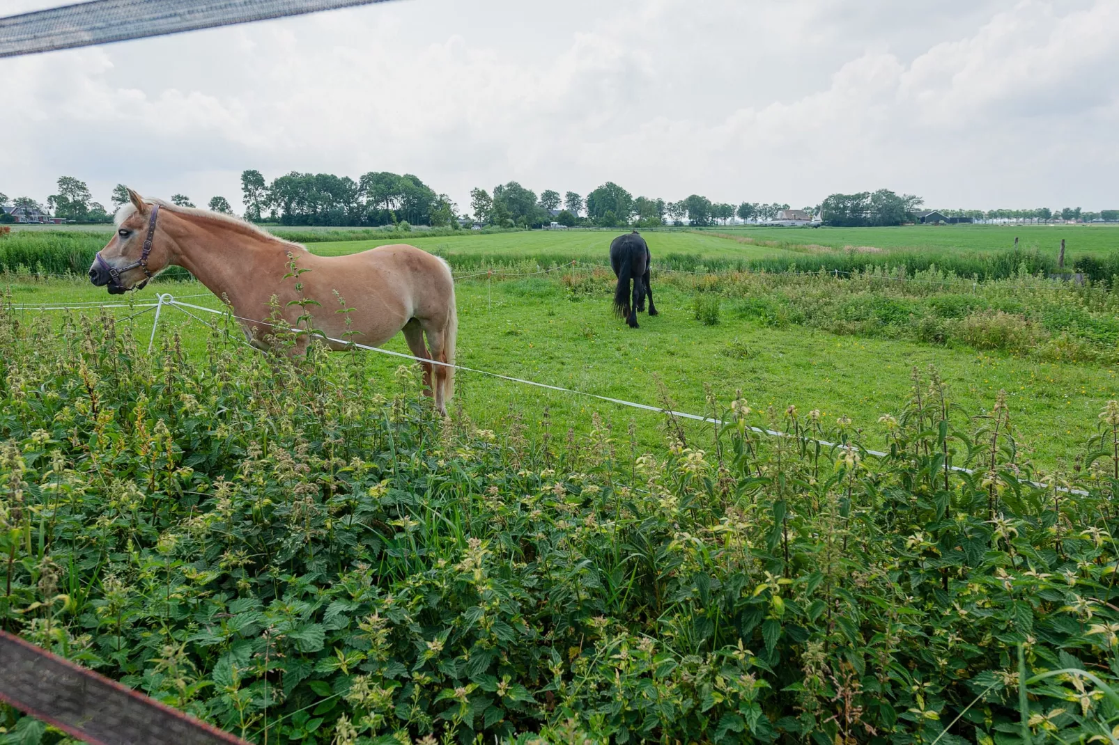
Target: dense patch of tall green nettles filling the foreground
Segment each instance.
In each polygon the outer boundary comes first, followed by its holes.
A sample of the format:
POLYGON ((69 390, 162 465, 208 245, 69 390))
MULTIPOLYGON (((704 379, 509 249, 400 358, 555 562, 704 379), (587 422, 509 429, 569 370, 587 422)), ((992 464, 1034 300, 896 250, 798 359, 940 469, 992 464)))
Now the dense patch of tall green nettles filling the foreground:
POLYGON ((530 440, 357 355, 6 312, 0 617, 254 742, 1113 742, 1119 404, 1051 473, 935 371, 884 458, 711 406, 530 440))

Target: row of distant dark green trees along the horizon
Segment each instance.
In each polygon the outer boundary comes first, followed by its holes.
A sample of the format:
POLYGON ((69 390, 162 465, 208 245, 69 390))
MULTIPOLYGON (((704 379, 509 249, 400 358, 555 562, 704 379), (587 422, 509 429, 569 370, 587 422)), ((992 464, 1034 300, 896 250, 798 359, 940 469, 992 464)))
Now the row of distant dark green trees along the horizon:
MULTIPOLYGON (((431 225, 459 227, 472 221, 496 227, 542 227, 557 223, 567 227, 659 227, 687 225, 703 227, 727 225, 735 217, 742 221, 764 223, 789 209, 787 204, 743 201, 736 207, 712 201, 700 195, 690 195, 677 201, 659 197, 634 197, 624 188, 606 181, 585 197, 576 191, 562 196, 553 189, 537 195, 517 181, 498 185, 492 190, 474 188, 470 191, 470 211, 459 213, 445 194, 436 194, 419 177, 388 171, 370 171, 354 180, 333 173, 300 173, 292 171, 271 181, 258 170, 241 175, 244 217, 256 223, 280 223, 292 226, 370 226, 431 225)), ((64 176, 57 181, 58 192, 40 204, 30 197, 17 197, 10 204, 53 215, 74 223, 111 223, 112 211, 94 201, 85 181, 64 176)), ((110 196, 112 209, 129 200, 128 189, 116 185, 110 196)), ((195 207, 184 194, 171 196, 171 202, 195 207)), ((924 200, 914 195, 897 195, 888 189, 834 194, 817 206, 802 211, 819 218, 826 225, 838 227, 902 225, 916 219, 916 210, 924 200)), ((8 207, 7 195, 0 194, 0 207, 8 207)), ((207 207, 217 213, 232 214, 229 200, 211 197, 207 207)), ((1062 209, 942 209, 946 217, 974 219, 1055 219, 1092 221, 1119 220, 1119 209, 1100 211, 1080 207, 1062 209)), ((13 221, 7 213, 0 221, 13 221)))

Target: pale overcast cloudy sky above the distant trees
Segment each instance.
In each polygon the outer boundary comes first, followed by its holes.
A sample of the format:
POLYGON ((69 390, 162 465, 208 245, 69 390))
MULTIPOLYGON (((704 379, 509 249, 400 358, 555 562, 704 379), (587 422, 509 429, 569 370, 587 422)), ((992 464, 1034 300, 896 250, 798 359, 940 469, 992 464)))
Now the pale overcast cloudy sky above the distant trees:
MULTIPOLYGON (((4 0, 0 12, 62 4, 4 0)), ((239 173, 1119 208, 1117 0, 402 0, 0 59, 0 191, 239 173)))

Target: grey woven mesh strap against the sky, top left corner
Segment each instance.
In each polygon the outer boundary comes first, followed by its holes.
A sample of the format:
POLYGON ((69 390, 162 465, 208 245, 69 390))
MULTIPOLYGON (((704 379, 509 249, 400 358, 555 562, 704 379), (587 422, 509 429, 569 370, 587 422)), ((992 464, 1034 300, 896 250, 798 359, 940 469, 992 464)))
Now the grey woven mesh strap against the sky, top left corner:
POLYGON ((384 0, 93 0, 0 18, 0 57, 124 41, 384 0))

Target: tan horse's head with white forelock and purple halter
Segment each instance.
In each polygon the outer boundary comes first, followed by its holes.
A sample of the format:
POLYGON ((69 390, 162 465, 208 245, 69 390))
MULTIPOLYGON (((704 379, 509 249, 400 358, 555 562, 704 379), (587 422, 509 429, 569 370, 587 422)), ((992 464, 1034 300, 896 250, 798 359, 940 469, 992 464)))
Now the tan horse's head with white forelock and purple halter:
POLYGON ((119 295, 142 289, 167 268, 171 252, 167 236, 158 229, 158 215, 159 205, 129 189, 129 201, 116 213, 116 233, 90 266, 90 281, 95 286, 109 285, 109 293, 119 295))

